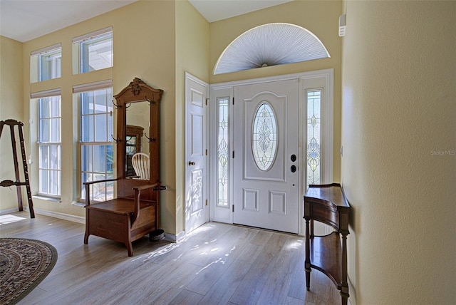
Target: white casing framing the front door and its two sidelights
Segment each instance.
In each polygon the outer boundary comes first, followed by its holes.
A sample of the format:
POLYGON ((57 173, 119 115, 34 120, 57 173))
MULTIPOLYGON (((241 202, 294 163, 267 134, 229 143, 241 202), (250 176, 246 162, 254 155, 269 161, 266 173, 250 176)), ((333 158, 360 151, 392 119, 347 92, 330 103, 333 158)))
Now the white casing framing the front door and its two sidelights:
MULTIPOLYGON (((229 204, 228 206, 217 205, 217 133, 218 133, 218 121, 217 121, 217 99, 226 99, 230 101, 234 97, 234 100, 239 101, 239 97, 234 95, 234 89, 239 86, 254 85, 259 83, 271 83, 281 82, 288 80, 299 81, 299 153, 297 154, 297 161, 299 165, 299 195, 298 195, 298 207, 299 210, 296 212, 296 219, 299 222, 299 234, 304 235, 305 222, 303 219, 304 215, 304 200, 303 196, 306 192, 306 91, 313 89, 322 89, 322 100, 321 100, 321 182, 330 183, 333 181, 333 69, 309 71, 304 73, 289 74, 284 76, 271 76, 267 78, 255 78, 244 81, 233 81, 228 83, 216 83, 212 84, 211 89, 211 220, 218 222, 237 223, 234 220, 235 212, 232 212, 232 205, 238 205, 237 190, 234 190, 235 179, 234 173, 239 174, 239 169, 235 169, 235 166, 239 166, 239 162, 234 164, 234 161, 239 161, 239 149, 234 149, 234 140, 238 140, 239 134, 236 128, 239 124, 239 115, 234 113, 234 108, 237 108, 232 103, 229 103, 229 204), (234 138, 234 140, 233 140, 234 138), (234 150, 236 157, 232 158, 234 150)), ((237 104, 237 103, 234 103, 237 104)), ((290 156, 289 156, 290 157, 290 156)), ((242 170, 241 170, 242 171, 242 170)), ((237 182, 237 179, 236 179, 237 182)), ((234 211, 237 211, 238 207, 235 207, 234 211)), ((254 224, 246 224, 254 225, 254 224)), ((316 233, 326 234, 326 230, 321 230, 316 226, 316 233)))

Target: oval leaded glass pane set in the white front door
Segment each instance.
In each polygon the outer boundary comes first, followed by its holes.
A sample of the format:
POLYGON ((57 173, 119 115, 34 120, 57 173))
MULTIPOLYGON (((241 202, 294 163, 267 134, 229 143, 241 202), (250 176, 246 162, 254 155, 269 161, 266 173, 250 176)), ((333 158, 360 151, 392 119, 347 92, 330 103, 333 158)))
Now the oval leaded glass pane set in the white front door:
POLYGON ((260 170, 269 170, 277 152, 277 121, 268 103, 261 103, 252 126, 252 151, 260 170))

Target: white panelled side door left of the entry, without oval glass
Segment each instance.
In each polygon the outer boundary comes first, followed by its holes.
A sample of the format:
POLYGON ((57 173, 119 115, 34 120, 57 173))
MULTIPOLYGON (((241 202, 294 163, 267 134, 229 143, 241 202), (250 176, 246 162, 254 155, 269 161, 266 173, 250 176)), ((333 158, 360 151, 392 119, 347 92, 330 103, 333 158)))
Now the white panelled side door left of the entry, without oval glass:
POLYGON ((207 120, 209 85, 185 78, 185 231, 207 222, 207 120))

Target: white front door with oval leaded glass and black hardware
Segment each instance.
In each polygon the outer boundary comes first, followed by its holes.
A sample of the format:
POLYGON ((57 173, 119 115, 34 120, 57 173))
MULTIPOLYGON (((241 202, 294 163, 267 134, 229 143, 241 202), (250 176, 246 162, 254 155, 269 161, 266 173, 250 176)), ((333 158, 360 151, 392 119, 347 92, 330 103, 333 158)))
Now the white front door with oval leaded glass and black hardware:
POLYGON ((234 87, 233 222, 299 232, 299 80, 234 87))

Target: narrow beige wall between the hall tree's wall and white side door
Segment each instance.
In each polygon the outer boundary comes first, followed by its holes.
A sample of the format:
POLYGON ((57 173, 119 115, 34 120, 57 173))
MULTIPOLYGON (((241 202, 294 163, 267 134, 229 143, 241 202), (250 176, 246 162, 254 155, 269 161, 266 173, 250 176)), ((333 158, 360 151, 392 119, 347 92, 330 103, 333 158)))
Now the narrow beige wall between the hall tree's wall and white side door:
POLYGON ((185 72, 209 83, 209 23, 188 1, 176 2, 176 232, 185 230, 185 72))

